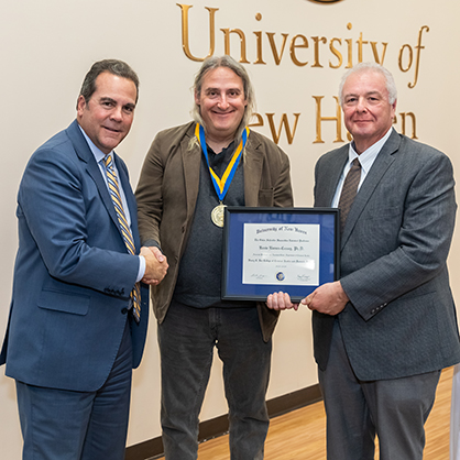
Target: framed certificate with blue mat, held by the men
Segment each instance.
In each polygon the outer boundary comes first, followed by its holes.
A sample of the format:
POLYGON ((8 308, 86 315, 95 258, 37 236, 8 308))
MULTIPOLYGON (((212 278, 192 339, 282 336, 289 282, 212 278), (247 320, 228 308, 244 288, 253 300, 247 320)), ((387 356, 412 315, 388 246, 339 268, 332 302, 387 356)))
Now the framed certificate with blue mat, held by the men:
POLYGON ((227 207, 222 299, 299 302, 339 278, 339 233, 336 208, 227 207))

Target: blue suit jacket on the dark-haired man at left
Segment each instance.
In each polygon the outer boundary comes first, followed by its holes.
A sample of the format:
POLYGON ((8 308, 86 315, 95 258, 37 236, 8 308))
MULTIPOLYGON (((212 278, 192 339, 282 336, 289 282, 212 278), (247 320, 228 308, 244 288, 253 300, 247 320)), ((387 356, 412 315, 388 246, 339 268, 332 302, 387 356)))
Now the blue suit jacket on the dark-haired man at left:
MULTIPOLYGON (((135 199, 116 156, 139 250, 135 199)), ((32 155, 18 194, 19 250, 0 364, 7 375, 53 388, 95 391, 106 381, 139 271, 127 252, 95 157, 77 124, 32 155)), ((131 321, 133 366, 145 342, 149 293, 131 321)), ((131 315, 130 315, 131 317, 131 315)))

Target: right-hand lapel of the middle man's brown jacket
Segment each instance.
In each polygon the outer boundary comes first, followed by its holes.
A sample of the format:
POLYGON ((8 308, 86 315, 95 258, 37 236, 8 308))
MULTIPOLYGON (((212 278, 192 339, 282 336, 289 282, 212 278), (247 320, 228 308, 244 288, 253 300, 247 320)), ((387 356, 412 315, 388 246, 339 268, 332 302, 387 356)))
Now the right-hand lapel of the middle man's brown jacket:
POLYGON ((262 177, 263 153, 260 143, 254 143, 251 132, 243 152, 244 204, 249 207, 259 206, 259 188, 262 177))

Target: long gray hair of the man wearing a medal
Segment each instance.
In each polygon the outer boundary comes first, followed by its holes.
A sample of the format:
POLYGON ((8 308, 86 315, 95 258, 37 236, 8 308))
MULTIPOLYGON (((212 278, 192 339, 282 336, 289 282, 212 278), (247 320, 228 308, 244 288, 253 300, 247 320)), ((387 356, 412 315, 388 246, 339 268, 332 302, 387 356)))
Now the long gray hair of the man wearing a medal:
MULTIPOLYGON (((236 138, 239 138, 241 133, 243 132, 244 127, 249 123, 252 114, 255 111, 254 88, 251 84, 248 72, 240 63, 238 63, 237 61, 233 59, 233 57, 228 56, 228 55, 211 56, 211 57, 206 58, 200 69, 198 70, 197 75, 195 76, 194 94, 196 94, 198 98, 200 97, 202 80, 205 79, 206 74, 219 67, 227 67, 230 70, 233 70, 243 80, 244 98, 248 105, 244 110, 243 119, 241 120, 241 123, 237 129, 236 138)), ((204 121, 200 114, 200 109, 199 109, 199 106, 196 103, 195 98, 194 98, 194 108, 191 109, 191 117, 197 123, 204 124, 204 121)))

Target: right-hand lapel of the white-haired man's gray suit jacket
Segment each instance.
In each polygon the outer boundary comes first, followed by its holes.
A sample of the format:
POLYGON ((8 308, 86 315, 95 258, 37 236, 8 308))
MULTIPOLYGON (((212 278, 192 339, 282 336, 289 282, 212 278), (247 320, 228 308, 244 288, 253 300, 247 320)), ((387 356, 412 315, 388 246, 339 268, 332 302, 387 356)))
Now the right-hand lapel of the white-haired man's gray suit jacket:
POLYGON ((343 248, 357 220, 361 216, 373 193, 377 188, 380 182, 388 169, 390 165, 395 161, 394 153, 399 149, 401 139, 396 131, 393 131, 388 140, 379 152, 370 172, 368 173, 362 186, 354 198, 353 205, 347 217, 347 223, 343 229, 341 247, 343 248))

